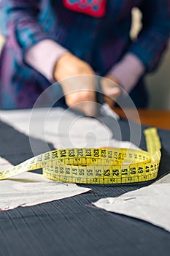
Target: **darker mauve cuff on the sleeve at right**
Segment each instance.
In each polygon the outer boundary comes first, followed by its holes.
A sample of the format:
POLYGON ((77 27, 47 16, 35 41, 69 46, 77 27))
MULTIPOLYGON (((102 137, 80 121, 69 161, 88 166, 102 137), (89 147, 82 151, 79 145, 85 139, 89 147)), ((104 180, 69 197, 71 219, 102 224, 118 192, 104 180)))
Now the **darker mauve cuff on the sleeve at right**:
POLYGON ((126 92, 130 92, 144 73, 144 65, 134 54, 126 53, 107 75, 117 80, 126 92))

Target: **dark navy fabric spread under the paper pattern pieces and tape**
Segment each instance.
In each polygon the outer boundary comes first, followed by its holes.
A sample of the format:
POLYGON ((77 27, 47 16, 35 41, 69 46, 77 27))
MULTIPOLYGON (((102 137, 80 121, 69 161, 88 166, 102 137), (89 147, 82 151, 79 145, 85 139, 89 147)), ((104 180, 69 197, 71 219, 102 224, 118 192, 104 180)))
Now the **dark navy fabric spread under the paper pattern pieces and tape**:
MULTIPOLYGON (((129 140, 128 123, 119 121, 119 125, 123 140, 129 140)), ((170 171, 170 132, 163 129, 158 129, 158 132, 163 146, 160 177, 170 171)), ((0 134, 0 155, 13 165, 32 157, 26 135, 1 121, 0 134)), ((36 142, 39 148, 43 147, 42 140, 36 142)), ((140 146, 146 149, 143 135, 140 146)), ((170 234, 165 230, 91 205, 102 197, 123 195, 144 186, 146 184, 114 187, 88 185, 92 192, 83 195, 1 211, 1 255, 168 256, 170 234)))

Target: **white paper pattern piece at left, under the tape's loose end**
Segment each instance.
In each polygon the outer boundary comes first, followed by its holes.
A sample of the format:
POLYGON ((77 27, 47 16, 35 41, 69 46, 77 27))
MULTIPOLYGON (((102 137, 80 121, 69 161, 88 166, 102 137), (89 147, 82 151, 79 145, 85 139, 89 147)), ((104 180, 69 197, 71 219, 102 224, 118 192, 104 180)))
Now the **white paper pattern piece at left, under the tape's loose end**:
MULTIPOLYGON (((3 170, 12 165, 0 158, 3 170)), ((10 210, 18 206, 35 206, 66 197, 73 197, 88 192, 90 189, 78 187, 76 184, 66 184, 50 181, 36 173, 22 173, 18 176, 0 181, 0 210, 10 210)))

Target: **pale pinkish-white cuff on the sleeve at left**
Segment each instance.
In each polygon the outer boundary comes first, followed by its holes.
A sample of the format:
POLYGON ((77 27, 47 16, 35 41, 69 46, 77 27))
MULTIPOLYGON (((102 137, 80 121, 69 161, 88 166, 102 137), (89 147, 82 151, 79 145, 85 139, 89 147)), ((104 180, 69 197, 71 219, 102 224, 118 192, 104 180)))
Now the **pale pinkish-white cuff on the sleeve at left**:
POLYGON ((25 61, 53 83, 55 63, 67 51, 57 42, 51 39, 45 39, 27 50, 25 61))

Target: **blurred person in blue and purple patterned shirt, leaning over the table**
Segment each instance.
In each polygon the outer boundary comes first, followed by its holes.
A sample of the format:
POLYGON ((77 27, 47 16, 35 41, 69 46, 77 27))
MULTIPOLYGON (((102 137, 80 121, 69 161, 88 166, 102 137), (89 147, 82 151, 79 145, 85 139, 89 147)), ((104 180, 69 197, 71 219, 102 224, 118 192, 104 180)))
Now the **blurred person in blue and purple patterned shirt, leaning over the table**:
MULTIPOLYGON (((169 0, 1 0, 0 19, 0 108, 31 108, 51 83, 96 74, 112 81, 104 94, 117 97, 119 85, 136 107, 147 107, 143 78, 166 49, 169 0), (142 12, 142 30, 131 42, 133 7, 142 12)), ((61 86, 68 106, 96 101, 92 84, 71 94, 61 86)))

